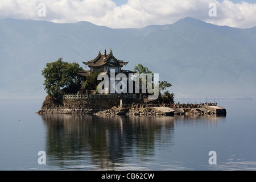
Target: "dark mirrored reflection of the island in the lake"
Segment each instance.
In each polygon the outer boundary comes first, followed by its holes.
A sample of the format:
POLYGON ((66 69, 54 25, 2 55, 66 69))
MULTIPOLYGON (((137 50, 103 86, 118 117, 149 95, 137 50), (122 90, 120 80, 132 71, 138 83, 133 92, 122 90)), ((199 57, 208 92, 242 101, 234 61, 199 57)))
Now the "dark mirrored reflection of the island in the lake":
MULTIPOLYGON (((65 169, 114 169, 154 162, 156 147, 170 147, 181 122, 217 122, 218 117, 139 117, 115 115, 41 115, 47 127, 50 166, 65 169)), ((123 168, 122 168, 123 169, 123 168)), ((138 169, 138 168, 137 168, 138 169)))

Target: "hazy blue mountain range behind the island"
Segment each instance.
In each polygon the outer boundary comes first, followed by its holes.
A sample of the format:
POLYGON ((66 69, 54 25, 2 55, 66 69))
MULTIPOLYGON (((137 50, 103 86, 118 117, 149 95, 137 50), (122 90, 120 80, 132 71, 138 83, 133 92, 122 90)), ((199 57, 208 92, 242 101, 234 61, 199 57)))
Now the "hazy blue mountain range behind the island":
POLYGON ((0 100, 43 100, 42 70, 63 57, 79 63, 98 51, 143 64, 182 98, 256 96, 256 27, 216 26, 193 18, 144 28, 109 28, 90 22, 0 19, 0 100))

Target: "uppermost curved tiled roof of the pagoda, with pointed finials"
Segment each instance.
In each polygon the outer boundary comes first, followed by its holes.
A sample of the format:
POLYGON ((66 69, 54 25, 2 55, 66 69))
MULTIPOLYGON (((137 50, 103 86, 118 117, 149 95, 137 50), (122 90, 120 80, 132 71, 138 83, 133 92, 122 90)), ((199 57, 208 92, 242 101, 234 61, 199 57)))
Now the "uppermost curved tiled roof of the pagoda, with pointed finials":
POLYGON ((123 65, 126 65, 129 62, 123 62, 122 60, 118 60, 113 56, 112 49, 110 49, 110 53, 106 54, 106 49, 104 55, 101 54, 101 52, 98 52, 98 56, 90 61, 82 62, 85 65, 88 65, 89 67, 101 67, 102 65, 109 65, 112 67, 122 67, 123 65))

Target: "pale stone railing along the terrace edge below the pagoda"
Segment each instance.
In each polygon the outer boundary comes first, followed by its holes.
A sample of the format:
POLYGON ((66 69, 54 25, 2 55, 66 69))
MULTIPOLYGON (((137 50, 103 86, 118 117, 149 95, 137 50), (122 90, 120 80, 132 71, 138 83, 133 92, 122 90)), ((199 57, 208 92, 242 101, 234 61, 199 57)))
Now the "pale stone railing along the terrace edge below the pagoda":
POLYGON ((68 99, 90 99, 90 98, 137 98, 136 94, 65 94, 62 98, 68 99))

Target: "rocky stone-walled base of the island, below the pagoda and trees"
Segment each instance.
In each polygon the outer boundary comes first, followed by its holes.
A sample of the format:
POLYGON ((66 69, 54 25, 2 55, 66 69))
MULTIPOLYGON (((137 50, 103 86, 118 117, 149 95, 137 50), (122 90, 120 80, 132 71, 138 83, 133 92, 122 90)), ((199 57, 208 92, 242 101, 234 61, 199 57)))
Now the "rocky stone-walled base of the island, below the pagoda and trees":
MULTIPOLYGON (((127 98, 129 95, 113 95, 116 98, 69 98, 46 97, 38 114, 94 114, 94 115, 204 115, 226 114, 226 109, 216 103, 203 104, 163 104, 160 100, 150 101, 147 96, 127 98)), ((103 95, 104 96, 104 95, 103 95)))

